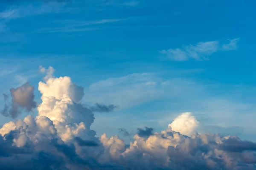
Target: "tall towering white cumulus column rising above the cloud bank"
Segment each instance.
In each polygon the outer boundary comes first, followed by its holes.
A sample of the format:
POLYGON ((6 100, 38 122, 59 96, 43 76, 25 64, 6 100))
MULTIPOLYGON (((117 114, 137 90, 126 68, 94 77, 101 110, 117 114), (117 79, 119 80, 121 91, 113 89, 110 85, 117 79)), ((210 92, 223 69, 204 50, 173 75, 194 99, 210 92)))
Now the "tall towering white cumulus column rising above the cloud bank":
POLYGON ((49 78, 39 82, 42 103, 38 106, 38 117, 46 116, 53 121, 58 135, 65 142, 76 136, 90 137, 94 115, 90 109, 77 103, 84 95, 84 89, 73 83, 70 77, 49 78))

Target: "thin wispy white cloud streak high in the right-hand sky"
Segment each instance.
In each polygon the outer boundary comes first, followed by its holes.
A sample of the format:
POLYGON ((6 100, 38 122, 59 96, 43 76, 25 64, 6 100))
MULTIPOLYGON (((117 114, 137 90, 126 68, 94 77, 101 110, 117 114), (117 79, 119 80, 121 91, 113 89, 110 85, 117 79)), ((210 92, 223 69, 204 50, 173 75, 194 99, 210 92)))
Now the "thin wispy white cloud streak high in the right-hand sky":
POLYGON ((228 44, 219 46, 219 41, 198 42, 196 45, 186 45, 182 48, 170 48, 160 51, 173 61, 208 60, 209 56, 217 51, 236 50, 239 38, 230 40, 228 44))

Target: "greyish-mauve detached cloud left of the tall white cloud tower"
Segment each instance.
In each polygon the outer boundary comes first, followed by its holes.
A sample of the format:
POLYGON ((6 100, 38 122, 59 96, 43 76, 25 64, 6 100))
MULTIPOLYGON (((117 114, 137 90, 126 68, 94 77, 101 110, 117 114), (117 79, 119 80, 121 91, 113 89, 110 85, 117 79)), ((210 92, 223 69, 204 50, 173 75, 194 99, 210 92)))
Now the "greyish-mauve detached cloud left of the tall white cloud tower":
POLYGON ((3 116, 12 117, 13 119, 21 113, 23 109, 25 111, 30 112, 33 108, 36 108, 35 88, 29 85, 29 82, 25 83, 24 85, 15 88, 11 88, 11 96, 12 102, 9 105, 8 98, 9 96, 4 94, 4 101, 5 106, 4 109, 1 111, 3 116))

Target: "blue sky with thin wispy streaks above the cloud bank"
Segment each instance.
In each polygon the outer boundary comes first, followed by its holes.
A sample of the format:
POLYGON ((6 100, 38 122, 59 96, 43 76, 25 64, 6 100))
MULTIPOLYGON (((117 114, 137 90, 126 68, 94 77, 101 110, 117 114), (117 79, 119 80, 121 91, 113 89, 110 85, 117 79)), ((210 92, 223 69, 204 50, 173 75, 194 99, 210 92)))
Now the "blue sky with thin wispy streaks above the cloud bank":
POLYGON ((211 133, 228 126, 256 141, 255 8, 253 0, 1 1, 0 93, 30 81, 40 102, 38 66, 51 65, 84 87, 85 104, 120 106, 95 115, 99 135, 163 130, 192 112, 211 133))

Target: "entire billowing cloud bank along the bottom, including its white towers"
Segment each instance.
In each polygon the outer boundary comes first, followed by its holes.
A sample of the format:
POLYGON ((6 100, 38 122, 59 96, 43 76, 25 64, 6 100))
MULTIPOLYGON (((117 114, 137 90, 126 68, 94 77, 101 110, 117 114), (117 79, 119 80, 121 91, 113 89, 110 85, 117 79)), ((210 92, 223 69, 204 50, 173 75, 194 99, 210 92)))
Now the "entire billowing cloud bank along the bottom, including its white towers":
POLYGON ((126 145, 117 135, 95 137, 90 129, 94 114, 80 103, 83 88, 70 77, 51 77, 39 82, 38 90, 42 95, 38 116, 29 115, 0 128, 1 170, 256 168, 256 143, 237 136, 199 134, 195 132, 199 122, 192 113, 182 113, 161 132, 138 128, 134 140, 126 145))

